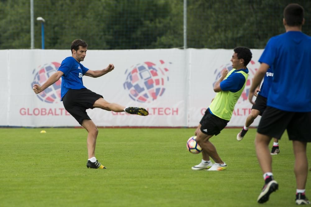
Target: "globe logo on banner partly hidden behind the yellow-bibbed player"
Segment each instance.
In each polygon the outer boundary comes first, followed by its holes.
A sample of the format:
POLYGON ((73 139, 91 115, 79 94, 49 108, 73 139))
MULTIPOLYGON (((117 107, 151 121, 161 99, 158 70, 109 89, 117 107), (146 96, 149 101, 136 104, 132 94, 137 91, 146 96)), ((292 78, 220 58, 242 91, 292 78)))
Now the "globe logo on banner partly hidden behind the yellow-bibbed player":
MULTIPOLYGON (((214 74, 216 75, 216 79, 215 79, 215 82, 213 83, 213 86, 215 85, 216 81, 220 78, 220 74, 223 69, 228 69, 229 72, 233 69, 231 64, 232 63, 228 63, 227 65, 221 65, 219 68, 217 68, 214 71, 214 74)), ((256 67, 256 62, 253 60, 251 60, 248 63, 247 68, 248 68, 248 79, 246 81, 245 88, 241 94, 241 97, 239 98, 237 103, 248 100, 249 89, 253 81, 253 78, 251 78, 251 75, 254 75, 255 72, 258 70, 258 68, 256 67)))

